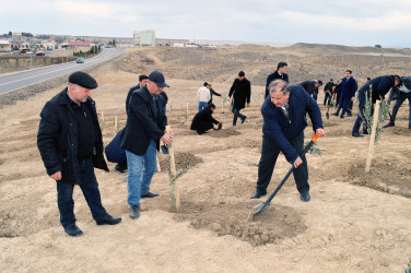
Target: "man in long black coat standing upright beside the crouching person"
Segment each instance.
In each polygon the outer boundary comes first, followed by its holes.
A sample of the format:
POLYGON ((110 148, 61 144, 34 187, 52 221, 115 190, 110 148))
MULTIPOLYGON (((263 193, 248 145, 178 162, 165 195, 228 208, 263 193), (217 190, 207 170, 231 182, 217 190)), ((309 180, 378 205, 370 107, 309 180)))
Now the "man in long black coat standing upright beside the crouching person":
POLYGON ((234 80, 234 83, 228 92, 227 100, 230 102, 231 97, 234 98, 233 106, 233 127, 237 124, 238 117, 242 119, 242 123, 246 120, 246 116, 239 112, 240 109, 249 107, 249 102, 251 97, 251 83, 246 79, 246 74, 243 71, 238 72, 238 78, 234 80))

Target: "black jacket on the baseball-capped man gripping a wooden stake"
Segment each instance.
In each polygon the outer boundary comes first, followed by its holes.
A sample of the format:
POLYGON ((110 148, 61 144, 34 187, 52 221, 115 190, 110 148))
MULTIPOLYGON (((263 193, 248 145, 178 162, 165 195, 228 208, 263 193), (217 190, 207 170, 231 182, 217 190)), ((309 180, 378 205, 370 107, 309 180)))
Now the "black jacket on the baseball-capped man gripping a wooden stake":
POLYGON ((163 99, 157 96, 155 100, 157 118, 154 115, 152 99, 146 86, 134 91, 130 97, 127 124, 120 136, 120 146, 137 155, 145 154, 151 140, 156 142, 158 150, 160 139, 164 135, 167 124, 163 99))

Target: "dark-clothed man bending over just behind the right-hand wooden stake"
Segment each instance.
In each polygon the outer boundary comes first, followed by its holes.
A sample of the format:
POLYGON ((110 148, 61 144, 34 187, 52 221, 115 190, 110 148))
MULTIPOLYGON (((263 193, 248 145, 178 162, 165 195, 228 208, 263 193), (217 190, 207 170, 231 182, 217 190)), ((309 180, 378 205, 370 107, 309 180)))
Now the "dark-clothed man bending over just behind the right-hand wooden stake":
MULTIPOLYGON (((388 93, 388 91, 391 87, 399 87, 401 86, 402 81, 399 75, 380 75, 377 78, 374 78, 369 82, 365 83, 360 90, 359 90, 359 116, 355 119, 354 127, 352 128, 352 136, 359 138, 363 136, 363 134, 360 134, 360 127, 363 122, 363 110, 365 106, 365 96, 369 94, 369 87, 371 87, 371 97, 373 99, 373 104, 376 103, 377 99, 386 99, 385 95, 388 93)), ((367 128, 363 126, 363 133, 367 134, 367 128)))

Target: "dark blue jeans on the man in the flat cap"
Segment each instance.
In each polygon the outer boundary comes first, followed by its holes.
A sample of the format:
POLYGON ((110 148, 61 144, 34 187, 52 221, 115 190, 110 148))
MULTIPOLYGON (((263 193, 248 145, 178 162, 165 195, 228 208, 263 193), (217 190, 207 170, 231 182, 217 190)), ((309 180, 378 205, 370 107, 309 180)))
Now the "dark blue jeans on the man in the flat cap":
MULTIPOLYGON (((107 217, 107 212, 102 204, 92 157, 79 162, 79 170, 80 189, 89 204, 93 218, 95 221, 104 221, 107 217)), ((75 224, 73 189, 74 185, 72 183, 57 181, 57 204, 60 211, 60 223, 63 227, 71 227, 75 224)))

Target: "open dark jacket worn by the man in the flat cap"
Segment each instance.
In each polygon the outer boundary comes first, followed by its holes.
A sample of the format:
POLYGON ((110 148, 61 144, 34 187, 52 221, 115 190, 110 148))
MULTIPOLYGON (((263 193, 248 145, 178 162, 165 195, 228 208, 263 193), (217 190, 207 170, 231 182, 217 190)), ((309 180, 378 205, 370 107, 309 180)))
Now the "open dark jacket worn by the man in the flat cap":
MULTIPOLYGON (((85 102, 93 116, 96 128, 96 143, 93 152, 95 168, 108 171, 103 156, 102 131, 98 124, 95 103, 92 98, 85 102)), ((61 180, 69 183, 81 183, 78 162, 78 124, 74 111, 67 97, 67 88, 46 103, 40 112, 37 133, 37 146, 49 176, 61 171, 61 180)))

